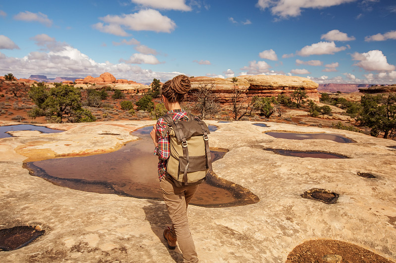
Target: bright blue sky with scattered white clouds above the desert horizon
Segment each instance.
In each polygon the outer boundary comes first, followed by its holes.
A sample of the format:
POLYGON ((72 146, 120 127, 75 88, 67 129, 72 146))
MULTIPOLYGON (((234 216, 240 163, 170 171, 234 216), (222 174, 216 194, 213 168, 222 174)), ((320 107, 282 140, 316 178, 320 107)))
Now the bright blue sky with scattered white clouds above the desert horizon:
POLYGON ((395 0, 14 0, 0 75, 396 83, 395 0))

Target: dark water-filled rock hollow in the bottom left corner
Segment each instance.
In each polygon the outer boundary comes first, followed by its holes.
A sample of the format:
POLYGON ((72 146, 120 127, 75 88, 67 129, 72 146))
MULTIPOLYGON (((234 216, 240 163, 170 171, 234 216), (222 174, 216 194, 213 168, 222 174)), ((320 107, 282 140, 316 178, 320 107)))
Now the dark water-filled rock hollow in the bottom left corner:
POLYGON ((0 251, 11 251, 24 247, 43 235, 40 226, 21 225, 0 229, 0 251))

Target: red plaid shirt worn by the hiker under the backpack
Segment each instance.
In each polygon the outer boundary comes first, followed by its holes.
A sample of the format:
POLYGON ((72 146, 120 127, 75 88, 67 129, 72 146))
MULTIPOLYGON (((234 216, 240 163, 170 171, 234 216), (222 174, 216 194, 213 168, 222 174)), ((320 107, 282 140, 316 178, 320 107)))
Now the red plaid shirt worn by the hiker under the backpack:
MULTIPOLYGON (((169 111, 172 115, 173 120, 189 120, 187 113, 183 109, 177 109, 169 111)), ((154 154, 158 155, 158 179, 161 181, 162 177, 166 174, 166 164, 170 156, 170 143, 169 143, 169 131, 165 137, 162 137, 162 132, 166 129, 168 123, 163 118, 157 120, 157 135, 158 135, 158 147, 155 147, 154 154)))

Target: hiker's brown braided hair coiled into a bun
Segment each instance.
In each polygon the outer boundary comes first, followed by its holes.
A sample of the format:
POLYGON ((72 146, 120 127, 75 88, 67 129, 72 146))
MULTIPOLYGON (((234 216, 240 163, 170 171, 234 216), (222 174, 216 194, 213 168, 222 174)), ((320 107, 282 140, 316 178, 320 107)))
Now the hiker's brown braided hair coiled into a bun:
POLYGON ((184 95, 187 94, 190 88, 190 78, 186 75, 178 75, 162 85, 161 94, 164 95, 170 103, 182 102, 184 100, 184 95))

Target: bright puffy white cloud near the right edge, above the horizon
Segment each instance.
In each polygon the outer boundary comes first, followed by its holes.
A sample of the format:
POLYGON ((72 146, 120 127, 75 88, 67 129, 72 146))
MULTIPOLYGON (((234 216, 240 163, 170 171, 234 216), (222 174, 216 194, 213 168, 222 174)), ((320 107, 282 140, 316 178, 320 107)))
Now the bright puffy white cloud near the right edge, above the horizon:
POLYGON ((396 67, 388 64, 387 57, 380 50, 370 50, 367 53, 353 53, 353 66, 358 66, 366 71, 394 71, 396 67))

